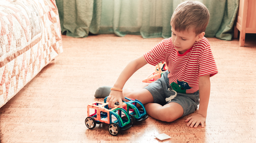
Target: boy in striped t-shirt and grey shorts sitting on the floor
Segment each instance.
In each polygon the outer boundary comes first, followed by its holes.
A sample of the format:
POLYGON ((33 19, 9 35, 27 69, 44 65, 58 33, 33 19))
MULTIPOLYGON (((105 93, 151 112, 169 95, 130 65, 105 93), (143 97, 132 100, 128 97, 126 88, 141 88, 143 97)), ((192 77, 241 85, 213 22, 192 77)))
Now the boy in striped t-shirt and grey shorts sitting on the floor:
POLYGON ((218 73, 210 43, 204 37, 208 22, 209 12, 202 3, 181 3, 171 18, 172 37, 162 40, 152 50, 132 60, 121 72, 113 88, 100 87, 95 97, 109 95, 107 102, 110 107, 124 101, 124 97, 138 99, 144 104, 148 115, 167 122, 193 113, 200 98, 197 114, 185 122, 190 127, 197 128, 199 124, 204 127, 210 96, 209 78, 218 73), (138 69, 147 63, 156 66, 163 61, 168 71, 160 79, 139 91, 122 90, 138 69))

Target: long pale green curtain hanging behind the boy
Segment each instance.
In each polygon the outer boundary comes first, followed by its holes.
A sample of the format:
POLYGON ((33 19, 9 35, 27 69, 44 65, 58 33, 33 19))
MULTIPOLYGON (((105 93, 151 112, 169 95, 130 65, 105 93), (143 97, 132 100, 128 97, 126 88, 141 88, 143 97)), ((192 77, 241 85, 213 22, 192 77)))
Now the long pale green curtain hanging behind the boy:
MULTIPOLYGON (((184 0, 56 0, 62 34, 171 37, 170 19, 184 0)), ((232 40, 239 0, 198 0, 210 12, 205 37, 232 40)))

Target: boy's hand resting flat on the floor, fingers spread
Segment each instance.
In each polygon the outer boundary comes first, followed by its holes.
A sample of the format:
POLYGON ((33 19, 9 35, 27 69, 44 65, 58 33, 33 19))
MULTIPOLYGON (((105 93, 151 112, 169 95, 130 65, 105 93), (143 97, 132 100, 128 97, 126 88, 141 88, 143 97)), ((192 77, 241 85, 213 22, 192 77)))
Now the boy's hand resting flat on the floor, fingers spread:
POLYGON ((191 128, 194 126, 194 128, 197 128, 199 124, 201 124, 202 128, 204 127, 204 122, 206 118, 203 117, 203 115, 196 114, 191 117, 188 117, 185 122, 187 123, 187 126, 190 126, 191 128))

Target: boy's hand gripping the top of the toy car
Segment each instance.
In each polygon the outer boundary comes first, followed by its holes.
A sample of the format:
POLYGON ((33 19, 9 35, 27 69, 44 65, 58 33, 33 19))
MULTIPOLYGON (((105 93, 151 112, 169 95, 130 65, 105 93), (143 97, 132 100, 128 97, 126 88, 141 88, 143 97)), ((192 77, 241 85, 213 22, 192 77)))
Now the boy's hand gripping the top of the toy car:
POLYGON ((125 101, 123 92, 111 90, 111 92, 107 98, 108 106, 110 108, 114 108, 115 103, 118 102, 120 104, 120 108, 122 108, 123 107, 122 101, 125 101))

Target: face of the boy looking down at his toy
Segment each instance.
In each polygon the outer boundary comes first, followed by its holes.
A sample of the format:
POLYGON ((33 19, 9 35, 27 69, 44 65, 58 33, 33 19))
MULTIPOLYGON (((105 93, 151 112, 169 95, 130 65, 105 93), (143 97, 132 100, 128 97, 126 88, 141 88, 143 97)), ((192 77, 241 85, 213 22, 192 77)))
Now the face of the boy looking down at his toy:
MULTIPOLYGON (((175 31, 175 27, 172 26, 172 43, 174 44, 175 50, 179 51, 180 54, 184 54, 188 49, 190 49, 196 41, 201 38, 200 34, 196 35, 193 30, 190 31, 175 31)), ((204 32, 202 32, 204 33, 204 32)), ((201 34, 202 34, 201 33, 201 34)), ((204 35, 204 34, 203 34, 204 35)))

